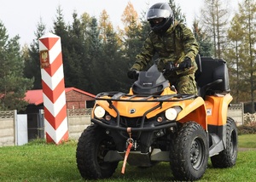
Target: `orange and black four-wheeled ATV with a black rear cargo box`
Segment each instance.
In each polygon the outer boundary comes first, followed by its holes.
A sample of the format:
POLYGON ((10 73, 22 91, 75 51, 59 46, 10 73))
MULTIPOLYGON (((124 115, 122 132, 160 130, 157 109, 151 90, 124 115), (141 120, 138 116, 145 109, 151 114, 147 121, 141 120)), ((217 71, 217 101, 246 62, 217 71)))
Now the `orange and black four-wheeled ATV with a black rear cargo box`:
MULTIPOLYGON (((92 124, 77 146, 84 179, 110 178, 120 161, 136 167, 170 162, 177 180, 201 179, 209 157, 214 168, 236 164, 236 122, 227 116, 232 100, 226 62, 197 56, 198 94, 178 94, 152 65, 140 71, 128 94, 96 95, 92 124)), ((173 70, 181 69, 173 67, 173 70)))

